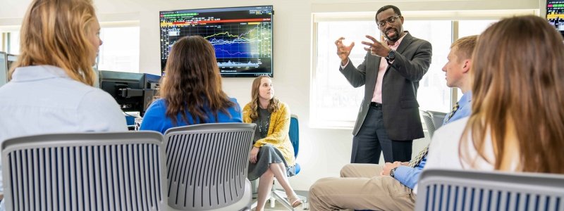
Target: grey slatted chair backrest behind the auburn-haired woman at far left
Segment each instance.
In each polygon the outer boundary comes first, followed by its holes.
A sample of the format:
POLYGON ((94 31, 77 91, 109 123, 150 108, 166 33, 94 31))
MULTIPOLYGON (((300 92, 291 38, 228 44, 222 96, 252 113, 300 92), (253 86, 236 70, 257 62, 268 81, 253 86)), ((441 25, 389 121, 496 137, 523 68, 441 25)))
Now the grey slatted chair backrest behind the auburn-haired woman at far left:
POLYGON ((157 132, 46 134, 2 143, 6 210, 163 210, 157 132))

